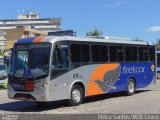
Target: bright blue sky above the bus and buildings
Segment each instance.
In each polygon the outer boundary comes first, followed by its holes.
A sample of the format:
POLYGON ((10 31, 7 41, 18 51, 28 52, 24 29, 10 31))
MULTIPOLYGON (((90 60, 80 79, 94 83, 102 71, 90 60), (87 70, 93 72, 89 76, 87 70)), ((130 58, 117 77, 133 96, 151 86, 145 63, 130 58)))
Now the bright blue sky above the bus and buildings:
POLYGON ((103 36, 149 42, 160 38, 160 0, 1 0, 0 19, 16 19, 24 11, 41 18, 61 18, 62 30, 77 36, 99 29, 103 36))

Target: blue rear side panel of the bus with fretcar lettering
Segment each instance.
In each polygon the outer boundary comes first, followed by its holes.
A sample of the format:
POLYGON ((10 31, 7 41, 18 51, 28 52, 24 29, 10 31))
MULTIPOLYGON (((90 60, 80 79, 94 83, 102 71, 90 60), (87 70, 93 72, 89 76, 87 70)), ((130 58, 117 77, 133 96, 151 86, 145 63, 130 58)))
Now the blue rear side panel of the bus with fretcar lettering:
POLYGON ((121 63, 121 74, 119 80, 114 84, 116 89, 111 89, 109 93, 126 91, 130 77, 135 78, 136 88, 147 87, 154 80, 153 65, 155 62, 121 63))

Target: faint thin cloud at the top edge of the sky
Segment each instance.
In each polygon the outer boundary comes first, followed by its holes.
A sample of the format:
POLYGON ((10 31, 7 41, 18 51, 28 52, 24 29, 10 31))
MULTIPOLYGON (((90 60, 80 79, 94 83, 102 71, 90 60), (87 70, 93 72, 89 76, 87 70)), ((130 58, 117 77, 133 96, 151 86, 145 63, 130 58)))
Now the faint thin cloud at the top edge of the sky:
POLYGON ((117 7, 120 7, 126 3, 127 3, 127 1, 118 1, 116 3, 106 3, 105 6, 107 8, 117 8, 117 7))

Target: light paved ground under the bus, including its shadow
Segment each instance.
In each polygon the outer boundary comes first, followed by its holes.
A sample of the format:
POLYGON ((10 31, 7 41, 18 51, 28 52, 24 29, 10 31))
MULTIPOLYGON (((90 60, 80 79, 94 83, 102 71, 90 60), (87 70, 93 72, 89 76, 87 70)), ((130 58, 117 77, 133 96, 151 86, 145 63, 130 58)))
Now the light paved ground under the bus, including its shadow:
POLYGON ((122 93, 89 97, 76 107, 68 107, 64 101, 52 102, 40 107, 34 102, 15 101, 7 98, 7 91, 0 90, 0 113, 22 114, 98 114, 98 113, 154 113, 160 114, 160 80, 156 85, 136 91, 133 96, 122 93))

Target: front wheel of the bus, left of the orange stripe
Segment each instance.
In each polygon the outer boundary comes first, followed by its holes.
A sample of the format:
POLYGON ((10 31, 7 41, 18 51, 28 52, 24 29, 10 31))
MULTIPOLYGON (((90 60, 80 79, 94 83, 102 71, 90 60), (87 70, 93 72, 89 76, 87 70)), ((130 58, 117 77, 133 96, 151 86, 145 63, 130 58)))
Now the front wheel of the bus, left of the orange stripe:
POLYGON ((83 90, 79 85, 74 85, 71 90, 70 99, 68 100, 68 104, 70 106, 78 106, 83 101, 83 90))

